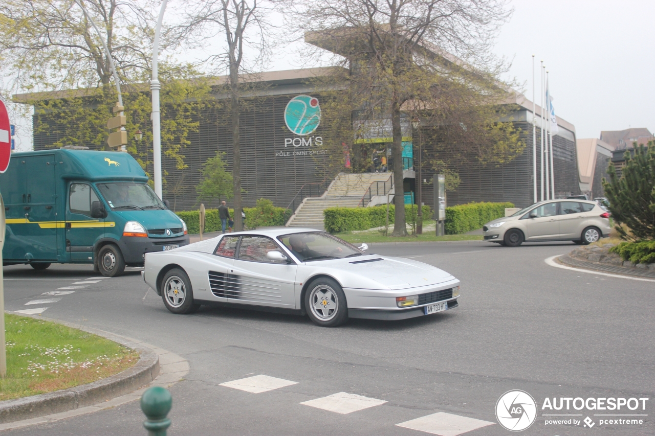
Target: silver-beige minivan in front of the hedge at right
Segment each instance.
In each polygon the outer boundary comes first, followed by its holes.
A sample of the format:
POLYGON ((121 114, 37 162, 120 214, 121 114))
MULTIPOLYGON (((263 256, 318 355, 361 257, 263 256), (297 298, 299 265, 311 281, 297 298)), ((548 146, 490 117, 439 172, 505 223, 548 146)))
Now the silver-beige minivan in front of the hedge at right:
POLYGON ((495 219, 482 228, 485 241, 518 247, 523 242, 591 244, 610 234, 610 213, 589 200, 546 200, 495 219))

